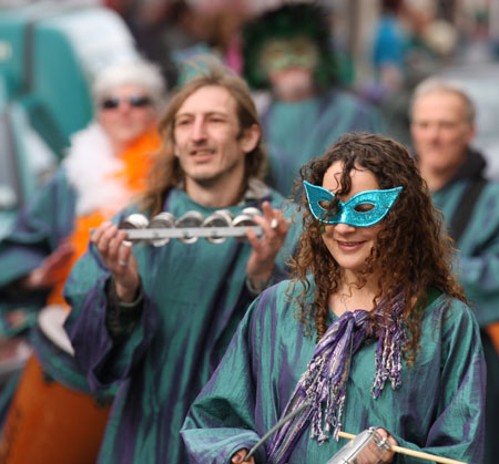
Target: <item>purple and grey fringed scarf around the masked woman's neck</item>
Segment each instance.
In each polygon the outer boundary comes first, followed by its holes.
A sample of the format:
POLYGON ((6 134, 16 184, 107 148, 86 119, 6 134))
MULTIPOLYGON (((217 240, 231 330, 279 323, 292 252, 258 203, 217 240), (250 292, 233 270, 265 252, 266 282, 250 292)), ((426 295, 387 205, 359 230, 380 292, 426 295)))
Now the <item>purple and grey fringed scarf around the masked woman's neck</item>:
POLYGON ((307 370, 299 379, 283 416, 301 408, 305 402, 308 402, 309 406, 288 421, 273 436, 267 451, 269 463, 287 462, 296 442, 310 421, 310 439, 322 444, 328 440, 329 432, 333 430, 334 437, 338 440, 352 357, 366 338, 374 337, 375 331, 379 338, 371 394, 378 398, 387 380, 391 381, 394 390, 400 386, 401 350, 407 341, 403 328, 404 295, 398 293, 391 302, 391 316, 388 323, 384 323, 385 303, 381 301, 374 309, 373 318, 369 317, 368 311, 348 311, 327 329, 314 351, 307 370))

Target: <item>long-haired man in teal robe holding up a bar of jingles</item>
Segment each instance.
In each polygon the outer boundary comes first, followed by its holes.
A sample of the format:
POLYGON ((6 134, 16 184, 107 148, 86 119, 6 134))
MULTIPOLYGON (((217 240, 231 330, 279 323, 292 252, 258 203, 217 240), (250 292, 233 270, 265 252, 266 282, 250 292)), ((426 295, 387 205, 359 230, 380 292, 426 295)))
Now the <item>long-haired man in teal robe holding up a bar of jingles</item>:
POLYGON ((283 212, 284 198, 258 179, 261 124, 241 78, 208 66, 173 96, 160 131, 165 151, 141 204, 150 218, 258 207, 264 234, 132 250, 115 224, 94 231, 65 288, 65 328, 91 385, 120 385, 102 463, 187 462, 180 436, 187 409, 248 303, 285 277, 297 238, 285 217, 294 208, 283 212))

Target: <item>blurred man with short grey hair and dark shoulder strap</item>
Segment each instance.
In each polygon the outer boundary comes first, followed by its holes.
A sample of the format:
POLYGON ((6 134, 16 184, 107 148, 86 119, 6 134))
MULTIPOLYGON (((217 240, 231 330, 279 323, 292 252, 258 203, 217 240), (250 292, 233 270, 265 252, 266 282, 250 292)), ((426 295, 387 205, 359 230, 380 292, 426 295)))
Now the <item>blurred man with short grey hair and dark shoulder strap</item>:
POLYGON ((486 458, 499 453, 499 184, 470 144, 475 107, 451 82, 429 79, 415 90, 411 135, 422 177, 456 240, 458 272, 481 328, 487 361, 486 458))

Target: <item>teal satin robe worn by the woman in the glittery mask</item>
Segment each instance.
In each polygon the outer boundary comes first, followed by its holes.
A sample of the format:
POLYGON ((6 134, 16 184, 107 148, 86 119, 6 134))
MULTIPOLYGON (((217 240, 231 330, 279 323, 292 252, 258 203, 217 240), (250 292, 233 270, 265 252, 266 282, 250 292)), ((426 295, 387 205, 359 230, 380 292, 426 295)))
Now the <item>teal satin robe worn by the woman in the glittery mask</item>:
MULTIPOLYGON (((192 463, 228 463, 237 450, 251 448, 278 421, 307 369, 315 333, 304 336, 293 305, 286 301, 286 281, 281 282, 253 302, 217 371, 191 408, 182 435, 192 463)), ((313 285, 309 295, 314 291, 313 285)), ((352 363, 342 430, 357 434, 383 426, 400 446, 475 464, 482 456, 482 349, 469 308, 452 300, 444 315, 446 300, 440 295, 426 308, 421 351, 414 367, 404 362, 399 390, 386 384, 373 399, 376 343, 359 349, 352 363)), ((329 322, 335 318, 332 312, 329 322)), ((330 437, 319 446, 309 434, 308 427, 289 464, 325 464, 346 444, 330 437)), ((266 462, 262 448, 256 462, 266 462)), ((394 462, 425 461, 396 454, 394 462)))

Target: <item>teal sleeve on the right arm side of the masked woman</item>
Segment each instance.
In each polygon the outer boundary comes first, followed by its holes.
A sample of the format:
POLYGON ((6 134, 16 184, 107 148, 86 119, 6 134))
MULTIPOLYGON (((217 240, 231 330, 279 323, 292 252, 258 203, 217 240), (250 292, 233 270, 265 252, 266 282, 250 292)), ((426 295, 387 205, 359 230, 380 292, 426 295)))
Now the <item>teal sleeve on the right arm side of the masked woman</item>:
MULTIPOLYGON (((426 436, 425 446, 417 446, 395 435, 399 446, 438 456, 464 461, 482 462, 485 429, 486 368, 478 323, 469 309, 454 301, 449 312, 426 321, 425 344, 441 343, 439 398, 435 419, 426 436), (432 327, 439 327, 439 340, 432 327)), ((422 354, 425 355, 425 354, 422 354)), ((427 373, 428 375, 429 373, 427 373)), ((420 379, 422 381, 422 379, 420 379)), ((416 406, 416 405, 415 405, 416 406)), ((396 454, 396 463, 427 463, 408 455, 396 454)))

